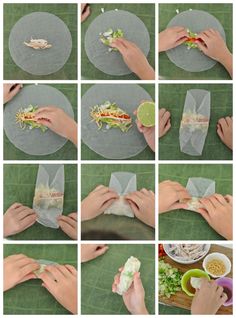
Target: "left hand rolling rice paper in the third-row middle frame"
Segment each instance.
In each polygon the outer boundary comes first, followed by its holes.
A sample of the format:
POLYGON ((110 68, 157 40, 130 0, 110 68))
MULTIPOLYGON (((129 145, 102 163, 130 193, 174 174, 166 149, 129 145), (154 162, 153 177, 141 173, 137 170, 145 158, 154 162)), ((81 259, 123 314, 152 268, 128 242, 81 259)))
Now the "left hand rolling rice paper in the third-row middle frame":
POLYGON ((114 201, 118 199, 118 194, 103 186, 97 186, 81 202, 81 220, 86 221, 102 214, 114 201))

